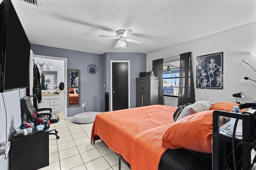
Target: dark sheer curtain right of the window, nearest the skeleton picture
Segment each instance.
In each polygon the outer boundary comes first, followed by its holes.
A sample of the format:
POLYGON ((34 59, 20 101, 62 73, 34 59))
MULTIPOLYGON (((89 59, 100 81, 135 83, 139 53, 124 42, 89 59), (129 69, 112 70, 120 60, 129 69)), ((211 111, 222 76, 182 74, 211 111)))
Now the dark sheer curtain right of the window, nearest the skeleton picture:
POLYGON ((191 52, 180 55, 178 106, 195 102, 191 52))

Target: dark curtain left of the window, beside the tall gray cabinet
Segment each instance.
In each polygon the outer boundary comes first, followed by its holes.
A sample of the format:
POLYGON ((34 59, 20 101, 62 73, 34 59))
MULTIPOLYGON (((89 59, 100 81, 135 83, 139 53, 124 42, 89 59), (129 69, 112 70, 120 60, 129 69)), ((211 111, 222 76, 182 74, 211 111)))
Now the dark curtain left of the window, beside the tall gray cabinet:
POLYGON ((158 88, 158 97, 159 104, 164 104, 164 96, 163 96, 163 59, 158 59, 153 61, 152 70, 154 71, 154 75, 159 78, 159 88, 158 88))

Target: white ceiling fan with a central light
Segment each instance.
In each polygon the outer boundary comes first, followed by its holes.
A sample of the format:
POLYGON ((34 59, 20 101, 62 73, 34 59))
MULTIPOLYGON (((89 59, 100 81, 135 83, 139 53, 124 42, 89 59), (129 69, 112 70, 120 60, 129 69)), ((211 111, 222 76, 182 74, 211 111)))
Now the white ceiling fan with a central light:
POLYGON ((117 35, 116 37, 110 37, 110 36, 104 36, 104 35, 100 35, 100 37, 120 39, 116 43, 115 48, 119 48, 119 47, 126 48, 126 42, 125 41, 129 41, 129 42, 137 43, 137 44, 142 44, 142 41, 139 41, 139 40, 136 40, 136 39, 126 38, 131 32, 132 32, 132 30, 130 30, 130 29, 126 29, 126 30, 121 29, 121 30, 116 31, 116 35, 117 35))

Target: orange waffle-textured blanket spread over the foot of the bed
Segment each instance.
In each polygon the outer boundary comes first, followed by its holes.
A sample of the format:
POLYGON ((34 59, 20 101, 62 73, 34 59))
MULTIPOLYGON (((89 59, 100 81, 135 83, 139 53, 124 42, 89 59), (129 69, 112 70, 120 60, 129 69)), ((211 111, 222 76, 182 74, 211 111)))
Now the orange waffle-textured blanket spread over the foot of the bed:
POLYGON ((131 164, 132 138, 148 129, 172 122, 176 109, 172 106, 152 105, 98 113, 92 127, 91 142, 98 135, 110 149, 131 164))

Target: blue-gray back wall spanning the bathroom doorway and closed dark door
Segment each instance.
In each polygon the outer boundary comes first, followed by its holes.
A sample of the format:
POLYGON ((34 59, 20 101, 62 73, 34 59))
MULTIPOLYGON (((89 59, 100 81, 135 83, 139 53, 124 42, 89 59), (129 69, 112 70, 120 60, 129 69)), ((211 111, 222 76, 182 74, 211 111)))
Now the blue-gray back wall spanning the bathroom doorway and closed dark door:
MULTIPOLYGON (((86 103, 86 111, 105 111, 105 92, 109 93, 110 99, 110 61, 130 61, 130 107, 136 107, 136 78, 140 72, 146 71, 146 54, 143 53, 104 53, 103 55, 31 45, 36 55, 71 59, 81 72, 81 95, 80 101, 86 103), (89 74, 87 66, 95 64, 98 68, 96 74, 89 74), (105 87, 104 87, 105 84, 105 87), (82 97, 83 96, 83 97, 82 97)), ((68 63, 68 68, 74 69, 68 63)), ((64 82, 66 84, 66 82, 64 82)), ((110 107, 109 107, 110 109, 110 107)), ((68 117, 84 112, 84 107, 68 108, 68 117)))

